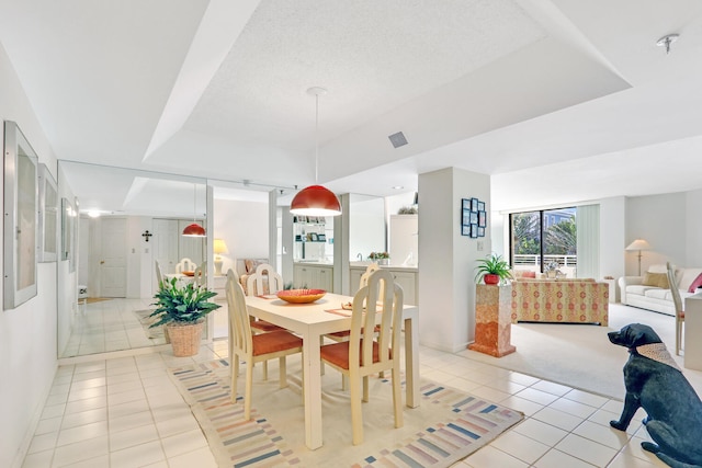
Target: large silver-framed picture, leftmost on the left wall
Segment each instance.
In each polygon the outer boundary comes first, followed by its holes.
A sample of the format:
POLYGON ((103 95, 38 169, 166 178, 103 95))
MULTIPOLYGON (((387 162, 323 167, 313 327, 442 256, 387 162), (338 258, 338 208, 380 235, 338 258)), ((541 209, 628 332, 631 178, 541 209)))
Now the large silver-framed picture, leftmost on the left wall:
POLYGON ((36 296, 38 157, 16 123, 4 122, 3 308, 36 296))

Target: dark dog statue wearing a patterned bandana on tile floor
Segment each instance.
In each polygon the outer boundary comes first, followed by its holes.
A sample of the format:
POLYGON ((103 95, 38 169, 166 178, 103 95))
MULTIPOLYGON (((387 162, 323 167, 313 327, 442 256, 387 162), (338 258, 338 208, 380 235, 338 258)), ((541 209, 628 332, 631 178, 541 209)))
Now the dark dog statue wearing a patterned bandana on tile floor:
POLYGON ((631 323, 608 333, 612 343, 629 349, 624 365, 626 397, 612 427, 625 431, 641 407, 650 438, 642 442, 673 468, 702 467, 702 401, 672 359, 666 345, 648 326, 631 323))

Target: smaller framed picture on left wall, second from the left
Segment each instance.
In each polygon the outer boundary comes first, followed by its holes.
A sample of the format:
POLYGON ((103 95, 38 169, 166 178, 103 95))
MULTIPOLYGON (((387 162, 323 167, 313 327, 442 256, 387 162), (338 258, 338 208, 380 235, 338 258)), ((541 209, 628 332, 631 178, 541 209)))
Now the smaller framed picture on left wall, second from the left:
POLYGON ((39 164, 39 262, 58 258, 58 191, 46 164, 39 164))

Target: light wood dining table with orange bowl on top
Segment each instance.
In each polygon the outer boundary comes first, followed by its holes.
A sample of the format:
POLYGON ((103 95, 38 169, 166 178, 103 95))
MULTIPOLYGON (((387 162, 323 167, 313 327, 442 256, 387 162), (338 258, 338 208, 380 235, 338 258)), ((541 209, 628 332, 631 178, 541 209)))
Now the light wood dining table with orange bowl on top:
MULTIPOLYGON (((353 301, 353 297, 327 294, 309 304, 286 303, 275 295, 247 296, 250 316, 284 327, 303 339, 303 396, 305 408, 305 444, 315 449, 322 446, 321 424, 321 359, 320 338, 327 333, 349 330, 351 310, 342 304, 353 301)), ((405 403, 409 408, 419 407, 419 309, 417 306, 403 307, 405 333, 405 403)))

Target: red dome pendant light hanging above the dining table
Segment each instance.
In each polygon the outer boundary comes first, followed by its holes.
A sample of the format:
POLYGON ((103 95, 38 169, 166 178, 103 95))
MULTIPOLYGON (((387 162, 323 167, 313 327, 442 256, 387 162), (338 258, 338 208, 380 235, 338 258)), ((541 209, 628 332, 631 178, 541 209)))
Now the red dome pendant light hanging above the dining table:
POLYGON ((290 213, 302 216, 338 216, 341 214, 339 198, 329 189, 317 185, 319 176, 319 96, 324 88, 309 88, 307 94, 315 96, 315 185, 309 185, 295 195, 290 213))

